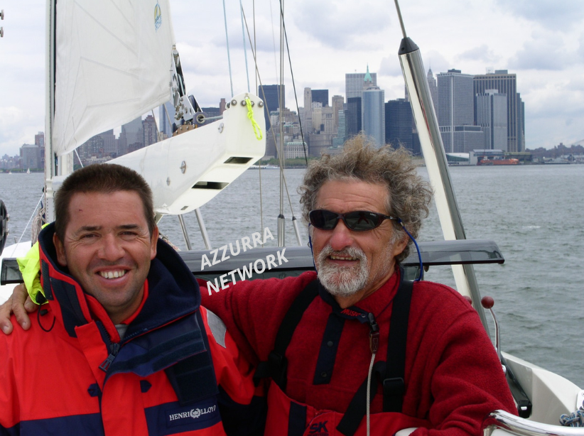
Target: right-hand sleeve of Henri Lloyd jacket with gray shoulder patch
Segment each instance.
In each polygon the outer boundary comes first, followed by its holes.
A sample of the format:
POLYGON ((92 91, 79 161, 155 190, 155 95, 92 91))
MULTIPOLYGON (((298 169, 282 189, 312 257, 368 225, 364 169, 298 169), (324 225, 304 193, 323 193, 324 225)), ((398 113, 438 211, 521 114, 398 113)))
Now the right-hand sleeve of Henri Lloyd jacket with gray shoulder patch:
POLYGON ((207 342, 219 385, 219 408, 229 436, 263 435, 266 424, 266 397, 263 385, 254 386, 254 367, 239 353, 227 327, 204 307, 207 342))

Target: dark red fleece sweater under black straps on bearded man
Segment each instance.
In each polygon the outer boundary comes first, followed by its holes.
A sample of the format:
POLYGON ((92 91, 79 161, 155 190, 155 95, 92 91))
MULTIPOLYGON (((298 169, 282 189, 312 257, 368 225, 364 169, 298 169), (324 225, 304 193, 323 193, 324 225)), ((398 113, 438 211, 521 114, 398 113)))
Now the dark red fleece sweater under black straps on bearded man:
MULTIPOLYGON (((242 281, 213 295, 202 292, 202 304, 219 315, 250 360, 264 361, 288 307, 314 278, 315 273, 309 272, 283 280, 242 281)), ((376 361, 386 359, 391 301, 398 284, 399 273, 395 273, 356 305, 372 312, 379 324, 376 361)), ((304 313, 286 352, 286 394, 320 410, 345 413, 369 369, 369 326, 357 320, 345 322, 330 383, 313 385, 330 312, 330 305, 317 296, 304 313)), ((419 429, 416 435, 480 435, 487 413, 495 409, 516 413, 477 312, 455 290, 438 283, 413 285, 405 383, 403 413, 429 420, 433 426, 433 430, 419 429)), ((382 411, 380 386, 371 410, 382 411)))

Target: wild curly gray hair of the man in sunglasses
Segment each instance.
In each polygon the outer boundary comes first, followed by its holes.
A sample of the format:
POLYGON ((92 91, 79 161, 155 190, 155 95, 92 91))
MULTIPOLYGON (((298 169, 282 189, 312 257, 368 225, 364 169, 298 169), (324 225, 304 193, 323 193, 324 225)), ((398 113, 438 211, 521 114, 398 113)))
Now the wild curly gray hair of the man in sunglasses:
MULTIPOLYGON (((364 134, 359 134, 345 143, 343 151, 334 156, 323 155, 308 165, 303 185, 298 187, 304 219, 315 209, 320 187, 329 180, 362 180, 386 185, 386 214, 401 218, 404 226, 414 238, 428 217, 428 206, 432 199, 432 188, 416 171, 416 164, 404 148, 394 150, 391 146, 375 148, 364 134)), ((393 221, 399 230, 395 240, 404 237, 401 225, 393 221)), ((409 254, 411 241, 396 261, 403 261, 409 254)))

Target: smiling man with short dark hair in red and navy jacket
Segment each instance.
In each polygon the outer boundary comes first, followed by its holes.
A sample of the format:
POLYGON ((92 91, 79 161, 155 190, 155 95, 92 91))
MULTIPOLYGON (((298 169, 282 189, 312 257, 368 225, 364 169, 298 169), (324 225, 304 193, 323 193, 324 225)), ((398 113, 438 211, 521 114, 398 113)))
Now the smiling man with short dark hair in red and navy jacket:
POLYGON ((0 337, 0 435, 261 434, 251 367, 158 239, 146 181, 92 165, 55 211, 38 239, 48 305, 0 337))

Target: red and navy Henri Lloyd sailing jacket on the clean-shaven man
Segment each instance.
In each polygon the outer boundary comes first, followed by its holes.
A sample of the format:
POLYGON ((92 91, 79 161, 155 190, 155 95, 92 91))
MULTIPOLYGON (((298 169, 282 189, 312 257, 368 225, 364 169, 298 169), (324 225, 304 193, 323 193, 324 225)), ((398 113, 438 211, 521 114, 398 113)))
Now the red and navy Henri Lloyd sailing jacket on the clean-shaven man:
POLYGON ((29 331, 0 337, 0 435, 261 434, 252 369, 170 246, 158 241, 148 296, 120 339, 55 261, 53 233, 39 237, 49 304, 29 331))

